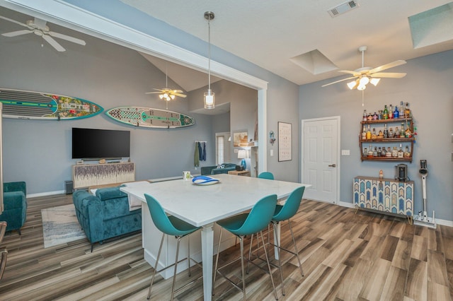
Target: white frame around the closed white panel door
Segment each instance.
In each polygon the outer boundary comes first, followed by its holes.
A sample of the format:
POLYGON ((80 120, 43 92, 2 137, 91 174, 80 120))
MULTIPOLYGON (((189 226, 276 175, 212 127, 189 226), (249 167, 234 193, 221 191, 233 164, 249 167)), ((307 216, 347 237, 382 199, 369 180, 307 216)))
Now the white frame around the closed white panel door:
MULTIPOLYGON (((320 118, 310 118, 301 120, 301 152, 300 152, 300 175, 301 182, 304 183, 304 126, 307 122, 322 122, 324 120, 336 120, 337 122, 337 149, 336 149, 336 177, 337 177, 337 191, 336 191, 336 200, 333 203, 338 204, 340 202, 340 149, 341 149, 341 118, 340 116, 331 116, 331 117, 320 117, 320 118)), ((323 200, 321 200, 323 201, 323 200)), ((331 202, 328 202, 331 203, 331 202)))

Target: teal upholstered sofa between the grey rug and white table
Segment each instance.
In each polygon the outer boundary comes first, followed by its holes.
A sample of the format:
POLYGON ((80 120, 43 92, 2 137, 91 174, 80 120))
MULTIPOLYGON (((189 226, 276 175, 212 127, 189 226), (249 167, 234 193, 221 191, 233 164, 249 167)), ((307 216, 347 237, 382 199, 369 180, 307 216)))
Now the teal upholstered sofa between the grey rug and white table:
POLYGON ((142 209, 130 211, 127 194, 120 187, 97 189, 96 196, 76 190, 72 201, 77 219, 91 242, 91 252, 96 242, 142 230, 142 209))

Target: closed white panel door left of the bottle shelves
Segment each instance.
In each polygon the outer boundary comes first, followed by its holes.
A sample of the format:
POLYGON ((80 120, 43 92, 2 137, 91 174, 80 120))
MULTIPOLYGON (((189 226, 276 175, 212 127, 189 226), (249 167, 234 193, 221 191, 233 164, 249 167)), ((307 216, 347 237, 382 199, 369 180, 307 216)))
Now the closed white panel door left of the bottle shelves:
POLYGON ((304 198, 338 203, 340 117, 302 120, 302 183, 311 184, 304 198))

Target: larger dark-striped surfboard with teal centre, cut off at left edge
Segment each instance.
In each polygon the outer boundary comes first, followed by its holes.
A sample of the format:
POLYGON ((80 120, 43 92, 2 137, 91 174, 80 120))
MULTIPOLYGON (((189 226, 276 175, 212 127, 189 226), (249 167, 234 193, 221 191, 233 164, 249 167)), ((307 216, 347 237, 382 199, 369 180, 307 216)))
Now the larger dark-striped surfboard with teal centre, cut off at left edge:
POLYGON ((3 117, 67 120, 93 117, 104 109, 96 103, 52 93, 0 88, 3 117))

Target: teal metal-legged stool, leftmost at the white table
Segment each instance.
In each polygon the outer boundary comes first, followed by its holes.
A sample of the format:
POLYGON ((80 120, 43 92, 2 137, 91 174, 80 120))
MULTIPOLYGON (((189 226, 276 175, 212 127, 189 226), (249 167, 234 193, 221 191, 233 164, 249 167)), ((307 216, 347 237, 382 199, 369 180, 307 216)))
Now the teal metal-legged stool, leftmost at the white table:
POLYGON ((169 266, 166 266, 165 268, 162 268, 161 271, 165 271, 167 268, 171 268, 171 266, 175 266, 174 272, 173 272, 173 284, 171 285, 171 299, 173 300, 173 295, 175 293, 178 293, 178 291, 182 288, 185 288, 187 285, 190 285, 197 281, 198 279, 201 279, 202 276, 199 278, 195 279, 194 281, 191 281, 190 283, 184 285, 181 288, 178 288, 178 290, 175 290, 175 283, 176 283, 176 271, 178 269, 178 264, 184 260, 188 260, 189 264, 189 276, 190 276, 190 259, 195 262, 198 266, 200 264, 195 261, 195 259, 190 258, 190 240, 188 240, 188 256, 185 257, 184 259, 181 259, 178 261, 178 253, 179 253, 179 244, 180 241, 183 237, 190 235, 191 233, 195 232, 196 230, 199 230, 201 227, 195 227, 193 225, 190 225, 189 223, 185 223, 185 221, 180 220, 179 218, 176 218, 174 216, 167 216, 164 208, 162 208, 161 204, 154 199, 153 196, 150 196, 149 194, 144 195, 145 199, 147 200, 148 208, 149 208, 149 213, 151 213, 151 218, 153 220, 154 225, 156 225, 156 228, 159 229, 162 232, 162 240, 161 240, 161 247, 159 247, 159 252, 157 254, 156 258, 156 264, 154 266, 154 271, 153 271, 153 276, 151 278, 151 284, 149 285, 149 292, 148 292, 148 297, 147 299, 151 297, 151 288, 153 287, 154 283, 154 276, 156 275, 157 271, 157 266, 159 265, 159 257, 161 256, 161 251, 162 251, 162 245, 164 244, 164 238, 165 235, 169 236, 174 236, 178 240, 178 243, 176 245, 176 259, 175 263, 171 264, 169 266))

